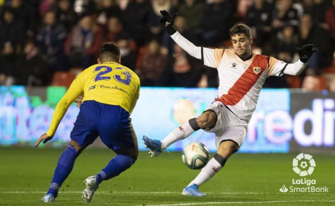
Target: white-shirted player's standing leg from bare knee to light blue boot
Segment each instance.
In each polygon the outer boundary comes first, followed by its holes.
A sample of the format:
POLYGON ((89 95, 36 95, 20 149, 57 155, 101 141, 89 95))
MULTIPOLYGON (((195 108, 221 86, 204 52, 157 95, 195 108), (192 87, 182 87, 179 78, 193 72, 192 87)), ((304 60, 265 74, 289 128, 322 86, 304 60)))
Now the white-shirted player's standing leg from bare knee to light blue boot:
POLYGON ((199 192, 198 187, 213 178, 224 166, 228 157, 237 152, 239 148, 240 146, 236 142, 230 140, 221 142, 217 153, 200 171, 198 176, 183 189, 182 195, 205 196, 204 193, 199 192))

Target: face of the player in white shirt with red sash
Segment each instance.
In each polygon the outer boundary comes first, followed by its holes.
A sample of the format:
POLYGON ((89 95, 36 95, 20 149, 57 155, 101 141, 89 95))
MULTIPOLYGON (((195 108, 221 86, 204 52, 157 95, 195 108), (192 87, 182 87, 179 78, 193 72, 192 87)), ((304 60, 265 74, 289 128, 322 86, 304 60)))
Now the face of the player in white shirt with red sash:
POLYGON ((234 51, 240 57, 248 57, 251 54, 252 38, 248 39, 244 33, 237 33, 231 37, 234 51))

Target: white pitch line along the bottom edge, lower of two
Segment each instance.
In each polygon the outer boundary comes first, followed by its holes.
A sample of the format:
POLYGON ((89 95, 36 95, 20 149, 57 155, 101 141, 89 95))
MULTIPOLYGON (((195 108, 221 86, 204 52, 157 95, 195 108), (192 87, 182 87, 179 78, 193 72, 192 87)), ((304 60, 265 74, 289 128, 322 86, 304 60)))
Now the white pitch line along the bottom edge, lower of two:
MULTIPOLYGON (((335 202, 335 200, 274 200, 274 201, 237 201, 237 202, 190 202, 176 204, 150 204, 146 206, 181 206, 181 205, 202 205, 202 204, 246 204, 246 203, 284 203, 284 202, 335 202)), ((138 205, 142 206, 142 205, 138 205)))

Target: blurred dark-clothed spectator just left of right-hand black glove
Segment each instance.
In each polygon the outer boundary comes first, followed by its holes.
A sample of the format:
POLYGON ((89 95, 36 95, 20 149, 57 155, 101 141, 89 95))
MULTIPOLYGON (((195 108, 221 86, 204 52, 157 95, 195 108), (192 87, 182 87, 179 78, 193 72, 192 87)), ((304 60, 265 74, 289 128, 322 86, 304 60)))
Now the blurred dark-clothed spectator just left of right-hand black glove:
POLYGON ((274 56, 285 62, 292 62, 296 52, 298 36, 294 33, 293 26, 285 26, 272 42, 274 56))

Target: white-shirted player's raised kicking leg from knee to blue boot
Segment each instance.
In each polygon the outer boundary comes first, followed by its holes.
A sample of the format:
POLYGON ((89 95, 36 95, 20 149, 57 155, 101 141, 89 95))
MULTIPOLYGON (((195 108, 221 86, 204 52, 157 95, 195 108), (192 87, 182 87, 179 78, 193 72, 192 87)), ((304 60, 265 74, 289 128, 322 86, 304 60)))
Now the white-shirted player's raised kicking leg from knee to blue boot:
POLYGON ((152 140, 147 136, 143 136, 143 143, 149 149, 151 156, 157 156, 173 143, 187 138, 194 131, 214 127, 216 121, 215 112, 208 110, 197 118, 192 118, 174 129, 162 141, 152 140))

